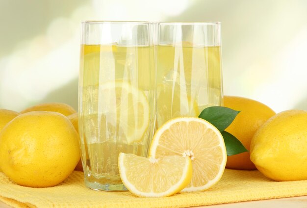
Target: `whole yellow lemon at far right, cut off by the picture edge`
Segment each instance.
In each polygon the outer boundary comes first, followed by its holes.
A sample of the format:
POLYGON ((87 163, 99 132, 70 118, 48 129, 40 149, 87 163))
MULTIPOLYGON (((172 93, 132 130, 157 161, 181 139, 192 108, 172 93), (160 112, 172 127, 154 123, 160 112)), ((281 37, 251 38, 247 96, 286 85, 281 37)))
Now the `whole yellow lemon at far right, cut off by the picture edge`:
POLYGON ((251 160, 275 181, 307 180, 307 111, 276 114, 255 133, 251 160))

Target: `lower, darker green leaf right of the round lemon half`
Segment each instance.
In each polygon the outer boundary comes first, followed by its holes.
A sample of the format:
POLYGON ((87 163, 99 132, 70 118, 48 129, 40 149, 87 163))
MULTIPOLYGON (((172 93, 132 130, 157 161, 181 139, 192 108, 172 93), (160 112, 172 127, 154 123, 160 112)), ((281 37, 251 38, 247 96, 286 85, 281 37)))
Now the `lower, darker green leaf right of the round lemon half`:
POLYGON ((221 132, 221 134, 224 138, 227 156, 233 156, 240 153, 248 152, 248 150, 243 146, 243 144, 231 133, 224 130, 221 132))

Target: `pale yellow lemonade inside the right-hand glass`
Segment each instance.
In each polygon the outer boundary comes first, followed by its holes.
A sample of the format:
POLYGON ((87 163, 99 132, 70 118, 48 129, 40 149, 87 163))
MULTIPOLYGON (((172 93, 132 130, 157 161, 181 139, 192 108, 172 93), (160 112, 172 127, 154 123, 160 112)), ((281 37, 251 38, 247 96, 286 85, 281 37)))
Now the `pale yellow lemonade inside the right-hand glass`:
POLYGON ((157 127, 222 104, 220 47, 157 46, 157 127))

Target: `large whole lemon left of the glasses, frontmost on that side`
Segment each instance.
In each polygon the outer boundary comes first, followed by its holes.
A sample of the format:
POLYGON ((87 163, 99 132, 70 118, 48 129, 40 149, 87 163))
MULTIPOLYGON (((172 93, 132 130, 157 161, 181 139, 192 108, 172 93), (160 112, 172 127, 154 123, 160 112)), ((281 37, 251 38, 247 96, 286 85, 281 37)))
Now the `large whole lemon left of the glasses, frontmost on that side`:
POLYGON ((0 132, 0 167, 12 181, 50 187, 64 181, 80 159, 78 134, 57 112, 21 114, 0 132))

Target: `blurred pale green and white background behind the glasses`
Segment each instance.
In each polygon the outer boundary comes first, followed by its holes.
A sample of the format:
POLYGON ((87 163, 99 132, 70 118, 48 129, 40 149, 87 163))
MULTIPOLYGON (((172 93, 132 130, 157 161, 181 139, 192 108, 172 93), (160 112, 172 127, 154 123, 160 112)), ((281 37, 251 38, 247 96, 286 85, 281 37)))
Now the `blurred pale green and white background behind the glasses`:
POLYGON ((82 20, 222 22, 224 94, 307 110, 307 0, 0 0, 0 108, 77 109, 82 20))

